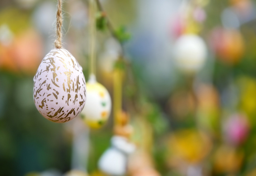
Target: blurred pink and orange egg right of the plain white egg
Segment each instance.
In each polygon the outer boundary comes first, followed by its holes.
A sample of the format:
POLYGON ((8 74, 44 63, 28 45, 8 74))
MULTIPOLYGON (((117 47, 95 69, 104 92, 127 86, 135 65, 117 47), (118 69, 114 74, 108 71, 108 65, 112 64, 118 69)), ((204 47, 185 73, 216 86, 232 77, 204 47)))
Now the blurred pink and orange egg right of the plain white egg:
POLYGON ((210 44, 220 60, 230 65, 237 64, 244 55, 244 38, 238 30, 215 28, 210 44))

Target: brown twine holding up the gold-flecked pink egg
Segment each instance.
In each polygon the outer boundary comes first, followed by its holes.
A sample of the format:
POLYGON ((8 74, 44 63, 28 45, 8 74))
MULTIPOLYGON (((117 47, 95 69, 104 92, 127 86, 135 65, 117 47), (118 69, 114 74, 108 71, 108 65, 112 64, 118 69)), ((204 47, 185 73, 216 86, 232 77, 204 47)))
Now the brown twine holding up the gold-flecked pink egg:
POLYGON ((56 49, 60 49, 62 48, 62 32, 61 32, 61 27, 62 27, 62 0, 58 0, 58 10, 57 10, 57 22, 56 22, 56 35, 57 35, 57 39, 54 42, 55 48, 56 49))

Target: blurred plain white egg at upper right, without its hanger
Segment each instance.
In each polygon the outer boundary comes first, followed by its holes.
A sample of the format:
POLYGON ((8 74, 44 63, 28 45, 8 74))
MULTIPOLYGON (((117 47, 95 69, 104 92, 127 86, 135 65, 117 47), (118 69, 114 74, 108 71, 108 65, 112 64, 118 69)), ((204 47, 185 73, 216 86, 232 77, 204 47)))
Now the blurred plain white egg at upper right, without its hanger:
POLYGON ((203 67, 206 57, 206 44, 197 35, 182 35, 174 45, 174 59, 181 71, 189 73, 199 71, 203 67))

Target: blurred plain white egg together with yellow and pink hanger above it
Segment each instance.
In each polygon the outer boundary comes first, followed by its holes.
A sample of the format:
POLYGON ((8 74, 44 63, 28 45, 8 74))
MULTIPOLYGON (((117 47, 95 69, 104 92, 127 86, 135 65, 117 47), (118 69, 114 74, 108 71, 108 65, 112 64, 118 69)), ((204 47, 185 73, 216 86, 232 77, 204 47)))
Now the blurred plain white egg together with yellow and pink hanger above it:
POLYGON ((174 44, 174 59, 177 67, 183 72, 196 73, 206 61, 207 46, 198 36, 206 18, 203 9, 206 4, 208 2, 188 1, 181 8, 180 20, 177 19, 183 27, 179 25, 182 30, 179 30, 179 37, 174 44))

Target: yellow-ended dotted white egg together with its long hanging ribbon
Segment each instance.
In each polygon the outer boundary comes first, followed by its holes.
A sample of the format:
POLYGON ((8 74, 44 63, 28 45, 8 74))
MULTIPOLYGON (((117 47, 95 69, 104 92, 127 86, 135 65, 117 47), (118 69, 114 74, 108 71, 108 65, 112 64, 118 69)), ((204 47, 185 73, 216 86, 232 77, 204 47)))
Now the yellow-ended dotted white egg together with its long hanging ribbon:
POLYGON ((87 106, 81 116, 89 127, 100 128, 110 115, 111 98, 108 90, 96 81, 95 76, 95 8, 94 0, 90 0, 90 78, 87 82, 87 106))

